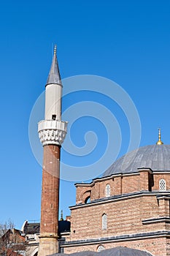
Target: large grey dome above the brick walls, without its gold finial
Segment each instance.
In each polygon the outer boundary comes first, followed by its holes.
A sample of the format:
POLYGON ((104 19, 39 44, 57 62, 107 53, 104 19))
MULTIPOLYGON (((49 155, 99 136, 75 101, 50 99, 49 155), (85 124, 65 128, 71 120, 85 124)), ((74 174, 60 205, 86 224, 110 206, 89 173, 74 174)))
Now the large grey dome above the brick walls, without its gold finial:
POLYGON ((155 171, 170 170, 170 145, 150 145, 138 148, 117 159, 103 177, 117 173, 134 173, 138 168, 150 168, 155 171))

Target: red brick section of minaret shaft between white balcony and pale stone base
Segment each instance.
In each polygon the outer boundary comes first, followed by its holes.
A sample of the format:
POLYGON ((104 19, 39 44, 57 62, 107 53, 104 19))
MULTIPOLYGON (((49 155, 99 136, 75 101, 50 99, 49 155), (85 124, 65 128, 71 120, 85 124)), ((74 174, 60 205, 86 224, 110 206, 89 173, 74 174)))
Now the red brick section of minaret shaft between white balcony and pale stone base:
POLYGON ((57 233, 60 147, 44 146, 41 233, 57 233))

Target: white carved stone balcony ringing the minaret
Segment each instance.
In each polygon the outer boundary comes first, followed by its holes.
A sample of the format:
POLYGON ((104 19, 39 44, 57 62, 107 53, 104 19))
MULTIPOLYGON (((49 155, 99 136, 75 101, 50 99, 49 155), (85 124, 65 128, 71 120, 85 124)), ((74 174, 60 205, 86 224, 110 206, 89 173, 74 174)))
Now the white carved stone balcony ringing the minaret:
POLYGON ((38 124, 39 139, 42 146, 61 145, 66 137, 66 121, 42 120, 38 124))

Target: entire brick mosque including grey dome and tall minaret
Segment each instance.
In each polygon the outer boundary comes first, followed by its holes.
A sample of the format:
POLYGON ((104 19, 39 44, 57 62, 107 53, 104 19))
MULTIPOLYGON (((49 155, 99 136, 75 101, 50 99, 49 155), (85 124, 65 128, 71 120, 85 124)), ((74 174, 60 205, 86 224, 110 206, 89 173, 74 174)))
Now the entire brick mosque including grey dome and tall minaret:
POLYGON ((41 223, 25 222, 27 256, 170 256, 170 145, 161 141, 117 159, 101 178, 77 183, 71 217, 58 222, 62 83, 56 48, 46 84, 41 223))

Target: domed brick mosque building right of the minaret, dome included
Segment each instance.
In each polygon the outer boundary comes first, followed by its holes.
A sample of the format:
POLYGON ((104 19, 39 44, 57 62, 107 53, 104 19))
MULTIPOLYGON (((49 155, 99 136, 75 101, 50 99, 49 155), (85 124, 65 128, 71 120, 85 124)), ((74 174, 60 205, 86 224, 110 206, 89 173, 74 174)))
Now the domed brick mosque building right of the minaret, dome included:
POLYGON ((170 145, 145 146, 118 159, 102 178, 75 184, 64 252, 126 246, 170 255, 169 159, 170 145))

